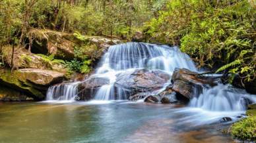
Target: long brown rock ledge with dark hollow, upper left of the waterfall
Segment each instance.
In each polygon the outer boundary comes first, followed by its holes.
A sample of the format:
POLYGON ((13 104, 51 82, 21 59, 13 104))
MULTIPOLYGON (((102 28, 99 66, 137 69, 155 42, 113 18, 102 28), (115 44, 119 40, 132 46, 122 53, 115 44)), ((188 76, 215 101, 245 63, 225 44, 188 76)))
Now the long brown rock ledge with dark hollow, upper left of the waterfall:
POLYGON ((87 57, 100 58, 111 45, 121 43, 119 39, 99 36, 84 36, 52 30, 30 30, 33 37, 32 49, 34 53, 53 54, 55 58, 71 60, 75 58, 75 47, 84 50, 87 57), (79 38, 81 37, 81 38, 79 38))

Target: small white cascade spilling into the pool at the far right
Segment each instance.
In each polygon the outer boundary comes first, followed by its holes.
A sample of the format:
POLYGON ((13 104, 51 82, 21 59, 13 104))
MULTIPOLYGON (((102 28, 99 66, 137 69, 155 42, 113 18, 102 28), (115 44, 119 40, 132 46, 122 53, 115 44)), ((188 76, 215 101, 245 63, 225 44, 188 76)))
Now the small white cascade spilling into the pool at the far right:
POLYGON ((256 97, 241 89, 234 89, 231 85, 218 84, 216 87, 204 89, 203 94, 193 98, 191 107, 202 108, 208 111, 230 112, 244 111, 246 105, 256 102, 256 97))

